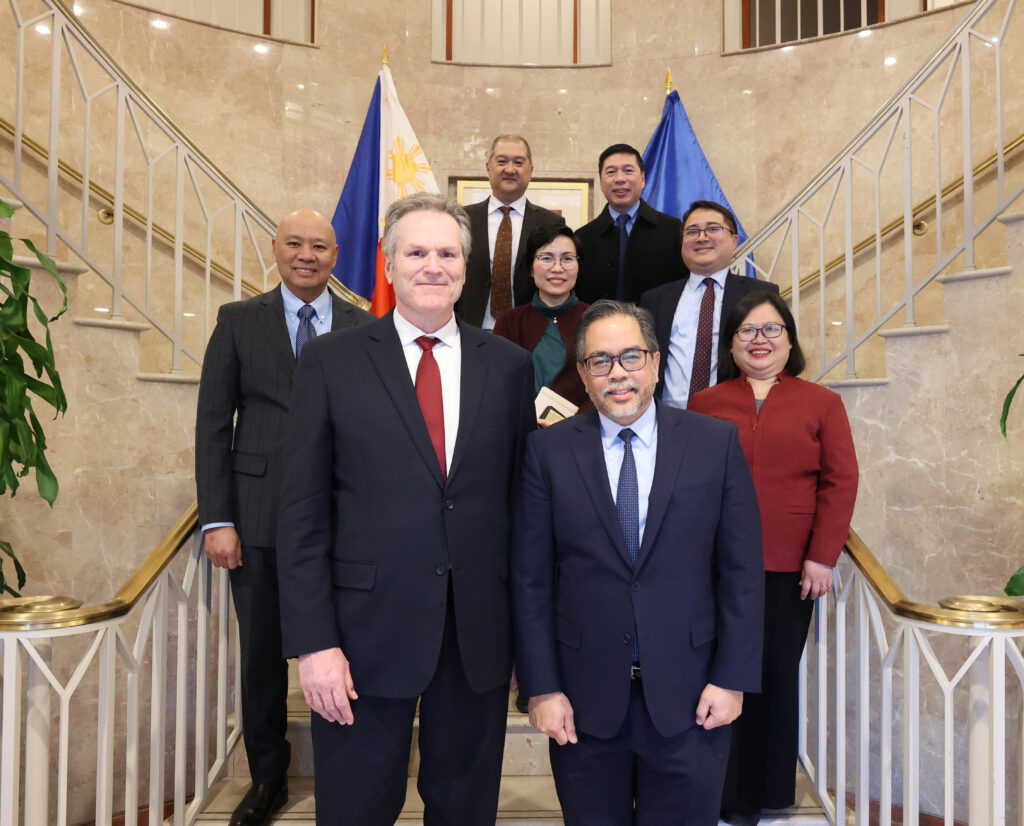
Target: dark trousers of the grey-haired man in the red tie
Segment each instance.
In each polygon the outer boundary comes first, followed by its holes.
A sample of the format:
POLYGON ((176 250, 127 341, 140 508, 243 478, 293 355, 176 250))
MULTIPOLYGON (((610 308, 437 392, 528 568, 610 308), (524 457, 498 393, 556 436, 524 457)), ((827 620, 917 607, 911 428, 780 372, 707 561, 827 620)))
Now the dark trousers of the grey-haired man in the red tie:
MULTIPOLYGON (((424 826, 495 822, 508 696, 507 685, 476 694, 467 684, 450 591, 437 670, 419 698, 417 789, 424 826)), ((360 694, 351 726, 311 712, 317 826, 391 826, 397 820, 416 701, 360 694)))

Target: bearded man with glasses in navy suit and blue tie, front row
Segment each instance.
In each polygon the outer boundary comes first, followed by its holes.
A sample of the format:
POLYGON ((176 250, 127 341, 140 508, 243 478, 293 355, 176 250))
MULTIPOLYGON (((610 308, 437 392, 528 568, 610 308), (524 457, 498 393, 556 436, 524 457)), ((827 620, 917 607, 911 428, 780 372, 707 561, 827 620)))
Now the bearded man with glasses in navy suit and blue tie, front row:
POLYGON ((516 668, 568 826, 718 822, 729 728, 761 680, 761 521, 734 425, 653 402, 649 313, 577 338, 595 409, 526 444, 516 668))

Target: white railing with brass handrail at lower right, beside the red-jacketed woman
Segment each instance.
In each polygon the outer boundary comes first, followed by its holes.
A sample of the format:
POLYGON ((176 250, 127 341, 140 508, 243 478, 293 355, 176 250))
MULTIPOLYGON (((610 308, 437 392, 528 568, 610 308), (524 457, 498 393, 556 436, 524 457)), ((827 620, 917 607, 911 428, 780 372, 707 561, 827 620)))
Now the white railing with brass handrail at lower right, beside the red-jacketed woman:
POLYGON ((903 823, 1021 822, 1020 603, 911 602, 852 531, 839 572, 801 661, 800 762, 828 823, 867 826, 876 801, 882 826, 893 807, 903 823))

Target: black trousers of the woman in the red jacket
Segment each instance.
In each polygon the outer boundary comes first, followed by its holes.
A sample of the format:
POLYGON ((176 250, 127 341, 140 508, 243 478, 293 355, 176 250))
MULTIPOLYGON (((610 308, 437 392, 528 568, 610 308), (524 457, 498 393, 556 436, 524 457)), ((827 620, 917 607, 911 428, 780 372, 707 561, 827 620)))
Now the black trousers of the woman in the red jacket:
POLYGON ((723 808, 749 813, 793 806, 800 657, 814 601, 800 599, 799 571, 765 572, 761 693, 743 697, 732 726, 723 808))

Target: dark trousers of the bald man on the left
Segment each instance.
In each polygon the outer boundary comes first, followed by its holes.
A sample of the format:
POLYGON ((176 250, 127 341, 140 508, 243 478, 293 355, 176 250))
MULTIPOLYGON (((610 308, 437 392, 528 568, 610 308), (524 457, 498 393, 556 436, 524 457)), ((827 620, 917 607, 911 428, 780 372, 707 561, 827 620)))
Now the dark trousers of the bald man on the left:
POLYGON ((288 661, 282 656, 278 561, 272 548, 244 548, 230 571, 242 646, 242 720, 253 783, 288 774, 288 661))

